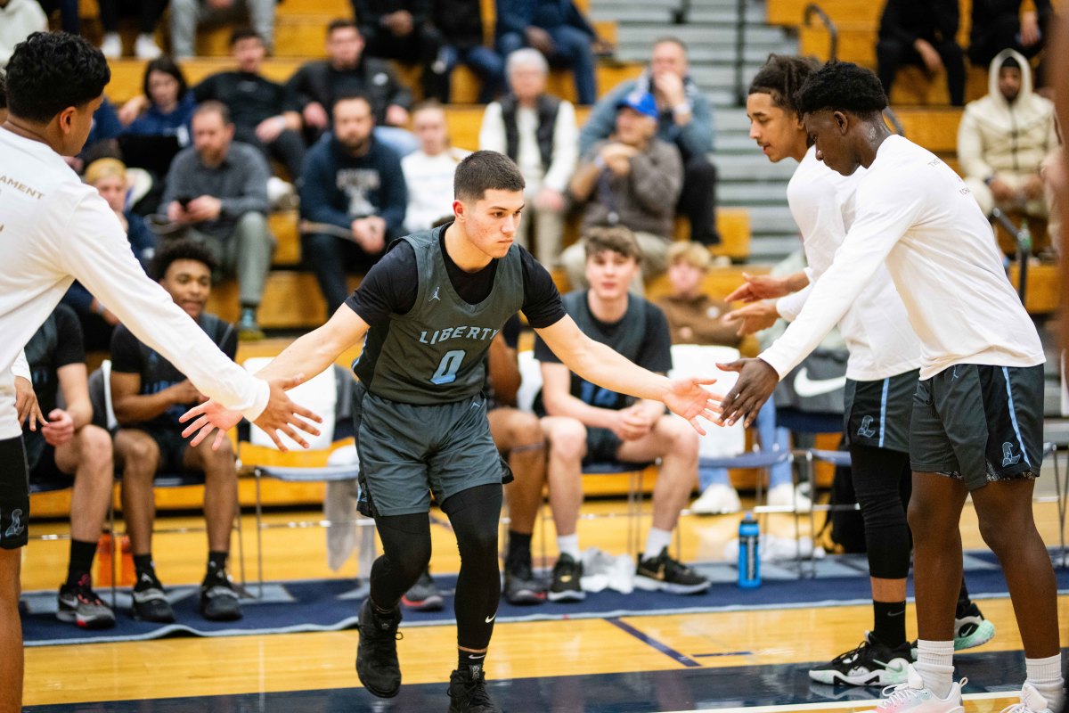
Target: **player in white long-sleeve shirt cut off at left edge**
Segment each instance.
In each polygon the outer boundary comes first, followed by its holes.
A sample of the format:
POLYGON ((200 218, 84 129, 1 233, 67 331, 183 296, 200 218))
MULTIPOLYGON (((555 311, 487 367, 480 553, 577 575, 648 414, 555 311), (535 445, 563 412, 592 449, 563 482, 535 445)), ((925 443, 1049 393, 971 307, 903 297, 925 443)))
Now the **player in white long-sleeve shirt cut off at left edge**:
MULTIPOLYGON (((21 428, 10 376, 17 355, 77 279, 203 392, 268 433, 304 438, 317 419, 285 396, 300 379, 249 376, 145 277, 122 227, 62 156, 81 151, 110 69, 79 36, 33 33, 6 67, 0 127, 0 713, 20 710, 19 548, 29 510, 21 428)), ((276 435, 277 437, 277 435, 276 435)))

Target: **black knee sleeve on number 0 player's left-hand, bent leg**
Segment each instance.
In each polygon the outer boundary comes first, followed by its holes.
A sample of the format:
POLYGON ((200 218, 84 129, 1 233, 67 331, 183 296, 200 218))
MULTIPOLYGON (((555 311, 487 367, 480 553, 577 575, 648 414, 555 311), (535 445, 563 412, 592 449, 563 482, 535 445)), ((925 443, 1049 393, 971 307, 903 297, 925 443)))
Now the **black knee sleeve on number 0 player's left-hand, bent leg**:
POLYGON ((383 555, 371 565, 371 601, 391 609, 431 561, 431 521, 425 512, 376 517, 383 555))

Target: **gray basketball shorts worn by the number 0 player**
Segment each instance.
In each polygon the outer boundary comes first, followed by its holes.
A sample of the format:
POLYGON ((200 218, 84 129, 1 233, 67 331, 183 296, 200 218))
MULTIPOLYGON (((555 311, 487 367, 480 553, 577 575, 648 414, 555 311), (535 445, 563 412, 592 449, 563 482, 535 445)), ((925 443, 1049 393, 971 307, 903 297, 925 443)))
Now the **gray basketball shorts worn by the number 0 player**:
POLYGON ((428 512, 432 492, 441 505, 470 487, 501 484, 501 459, 482 394, 419 405, 358 385, 354 402, 360 481, 375 516, 428 512))

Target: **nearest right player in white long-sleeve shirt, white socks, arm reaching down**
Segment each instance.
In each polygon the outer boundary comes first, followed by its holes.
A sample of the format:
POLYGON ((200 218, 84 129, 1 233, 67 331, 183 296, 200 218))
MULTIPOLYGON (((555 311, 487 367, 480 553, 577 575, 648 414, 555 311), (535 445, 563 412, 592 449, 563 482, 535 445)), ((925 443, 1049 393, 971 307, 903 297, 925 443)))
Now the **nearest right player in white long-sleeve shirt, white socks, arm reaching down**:
POLYGON ((817 158, 843 175, 868 172, 832 266, 784 336, 740 371, 723 418, 752 421, 778 378, 856 303, 886 264, 921 344, 911 419, 918 660, 880 713, 961 710, 952 682, 954 604, 961 575, 961 509, 972 496, 980 532, 1009 585, 1027 680, 1014 713, 1063 702, 1056 583, 1032 514, 1042 460, 1043 352, 1006 279, 991 227, 961 179, 883 122, 879 80, 833 63, 795 94, 817 158))

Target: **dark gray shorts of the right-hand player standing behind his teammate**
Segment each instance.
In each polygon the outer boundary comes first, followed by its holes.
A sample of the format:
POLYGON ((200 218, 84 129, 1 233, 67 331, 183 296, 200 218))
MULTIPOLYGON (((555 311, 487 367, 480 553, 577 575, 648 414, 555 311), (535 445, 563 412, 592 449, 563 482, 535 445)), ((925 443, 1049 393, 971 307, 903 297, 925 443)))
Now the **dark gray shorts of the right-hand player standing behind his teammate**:
POLYGON ((910 417, 919 370, 873 382, 847 379, 842 433, 847 445, 910 452, 910 417))

